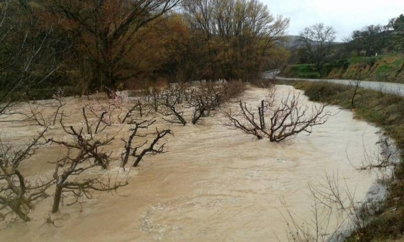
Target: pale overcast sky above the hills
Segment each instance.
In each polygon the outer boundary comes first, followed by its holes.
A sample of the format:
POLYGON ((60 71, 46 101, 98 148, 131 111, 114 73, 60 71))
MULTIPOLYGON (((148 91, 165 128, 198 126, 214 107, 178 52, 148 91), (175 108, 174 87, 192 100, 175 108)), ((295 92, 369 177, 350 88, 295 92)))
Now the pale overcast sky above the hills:
POLYGON ((365 25, 386 25, 404 14, 404 0, 262 0, 274 15, 290 18, 290 35, 315 23, 331 25, 337 41, 365 25))

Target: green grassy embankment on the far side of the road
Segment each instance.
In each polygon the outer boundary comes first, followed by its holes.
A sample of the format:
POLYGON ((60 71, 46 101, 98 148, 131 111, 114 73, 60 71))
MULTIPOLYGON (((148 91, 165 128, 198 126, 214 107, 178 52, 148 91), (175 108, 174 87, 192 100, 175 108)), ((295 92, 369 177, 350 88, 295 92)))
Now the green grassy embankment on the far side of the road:
MULTIPOLYGON (((322 73, 328 79, 357 79, 363 67, 362 78, 368 81, 404 83, 404 57, 379 55, 355 57, 327 64, 322 73)), ((281 73, 284 77, 320 78, 313 65, 293 65, 281 73)))

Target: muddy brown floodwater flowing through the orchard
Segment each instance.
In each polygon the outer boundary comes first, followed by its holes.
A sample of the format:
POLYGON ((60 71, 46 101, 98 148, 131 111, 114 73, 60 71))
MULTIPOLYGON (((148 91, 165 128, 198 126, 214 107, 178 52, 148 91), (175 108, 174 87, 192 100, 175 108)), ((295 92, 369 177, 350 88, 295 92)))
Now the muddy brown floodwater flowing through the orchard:
MULTIPOLYGON (((279 94, 290 89, 277 86, 279 94)), ((265 94, 264 89, 250 88, 243 100, 255 104, 265 94)), ((374 173, 354 169, 345 153, 360 163, 364 142, 376 147, 379 129, 337 106, 326 109, 337 114, 325 125, 315 127, 310 136, 280 144, 230 130, 220 115, 195 126, 172 125, 169 152, 146 157, 132 168, 121 196, 103 193, 85 200, 82 207, 61 206, 53 215, 60 218, 58 227, 45 221, 52 206, 47 199, 32 211, 32 222, 0 231, 0 241, 277 241, 277 236, 284 241, 282 201, 310 220, 309 182, 321 183, 325 172, 338 172, 341 183, 363 200, 377 179, 374 173)), ((74 107, 70 111, 67 120, 74 123, 79 114, 74 107)), ((18 123, 1 124, 0 129, 4 140, 16 144, 35 134, 32 127, 18 123)), ((52 173, 54 165, 46 161, 54 161, 58 152, 59 147, 41 148, 23 164, 24 171, 52 173)), ((330 227, 342 219, 333 216, 330 227)))

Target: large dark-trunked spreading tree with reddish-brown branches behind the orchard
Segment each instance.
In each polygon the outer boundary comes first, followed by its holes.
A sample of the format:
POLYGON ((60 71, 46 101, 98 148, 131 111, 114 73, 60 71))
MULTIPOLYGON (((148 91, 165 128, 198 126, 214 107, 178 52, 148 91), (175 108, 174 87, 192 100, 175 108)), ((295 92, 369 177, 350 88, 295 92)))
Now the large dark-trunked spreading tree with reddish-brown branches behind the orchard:
POLYGON ((177 7, 182 0, 51 0, 46 5, 64 19, 79 56, 95 70, 94 87, 105 87, 109 97, 131 77, 125 58, 130 41, 151 21, 177 7))

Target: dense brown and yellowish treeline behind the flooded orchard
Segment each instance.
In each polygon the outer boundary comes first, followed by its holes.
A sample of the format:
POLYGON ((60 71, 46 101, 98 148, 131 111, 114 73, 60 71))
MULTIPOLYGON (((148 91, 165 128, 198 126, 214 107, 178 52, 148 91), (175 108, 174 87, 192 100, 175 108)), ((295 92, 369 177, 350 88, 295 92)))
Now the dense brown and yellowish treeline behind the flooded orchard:
POLYGON ((113 97, 147 83, 250 81, 287 54, 279 43, 289 20, 255 0, 7 0, 0 8, 0 102, 60 87, 113 97))

